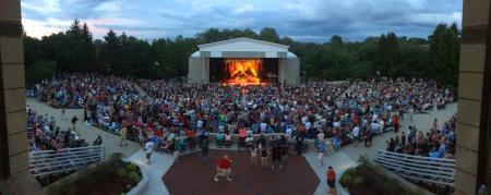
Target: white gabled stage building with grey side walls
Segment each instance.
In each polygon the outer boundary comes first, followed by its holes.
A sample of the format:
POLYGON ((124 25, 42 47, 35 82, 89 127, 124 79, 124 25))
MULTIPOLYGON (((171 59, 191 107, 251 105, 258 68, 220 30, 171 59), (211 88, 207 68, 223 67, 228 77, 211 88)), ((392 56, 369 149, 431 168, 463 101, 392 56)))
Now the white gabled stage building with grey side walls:
POLYGON ((289 46, 235 38, 197 46, 189 58, 189 83, 300 82, 300 59, 289 46))

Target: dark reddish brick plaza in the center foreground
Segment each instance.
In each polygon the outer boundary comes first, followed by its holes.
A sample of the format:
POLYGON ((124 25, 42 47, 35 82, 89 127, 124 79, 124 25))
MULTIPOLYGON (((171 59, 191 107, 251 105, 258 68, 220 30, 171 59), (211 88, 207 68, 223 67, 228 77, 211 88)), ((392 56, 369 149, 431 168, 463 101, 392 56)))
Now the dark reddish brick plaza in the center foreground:
MULTIPOLYGON (((313 194, 319 178, 303 157, 289 155, 283 169, 251 168, 248 151, 209 150, 209 163, 201 161, 201 153, 179 157, 164 175, 172 195, 304 195, 313 194), (216 162, 228 155, 232 160, 232 181, 215 182, 216 162)), ((271 161, 268 161, 271 164, 271 161)))

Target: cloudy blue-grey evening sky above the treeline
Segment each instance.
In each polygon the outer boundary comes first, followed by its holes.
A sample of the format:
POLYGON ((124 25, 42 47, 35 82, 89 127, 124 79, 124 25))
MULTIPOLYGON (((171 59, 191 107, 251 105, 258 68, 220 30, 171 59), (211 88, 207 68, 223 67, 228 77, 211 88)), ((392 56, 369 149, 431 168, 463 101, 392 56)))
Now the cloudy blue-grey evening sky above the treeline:
POLYGON ((193 37, 207 28, 274 27, 298 41, 332 35, 363 40, 394 32, 427 38, 439 23, 462 26, 463 0, 22 0, 27 35, 67 31, 74 19, 95 38, 110 29, 143 39, 193 37))

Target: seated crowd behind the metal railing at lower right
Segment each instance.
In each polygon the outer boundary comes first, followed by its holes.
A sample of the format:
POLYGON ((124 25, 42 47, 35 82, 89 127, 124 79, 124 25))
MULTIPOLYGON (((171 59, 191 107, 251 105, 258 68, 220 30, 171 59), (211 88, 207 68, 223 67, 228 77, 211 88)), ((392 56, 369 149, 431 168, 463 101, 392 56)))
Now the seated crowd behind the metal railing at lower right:
POLYGON ((434 119, 430 132, 426 135, 415 126, 407 133, 396 134, 387 141, 387 151, 433 158, 453 159, 456 144, 457 115, 447 122, 439 123, 434 119))

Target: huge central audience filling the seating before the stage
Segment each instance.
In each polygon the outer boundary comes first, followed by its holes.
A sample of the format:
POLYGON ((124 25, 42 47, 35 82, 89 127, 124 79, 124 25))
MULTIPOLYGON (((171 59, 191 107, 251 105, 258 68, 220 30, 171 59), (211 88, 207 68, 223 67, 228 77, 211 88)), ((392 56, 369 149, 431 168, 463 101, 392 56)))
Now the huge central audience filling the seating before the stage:
POLYGON ((411 119, 453 101, 453 94, 433 81, 388 78, 282 87, 69 74, 37 84, 31 94, 55 108, 82 108, 87 124, 142 145, 151 137, 170 145, 176 137, 207 133, 224 142, 230 134, 313 139, 322 133, 339 146, 359 138, 370 146, 373 135, 397 132, 405 113, 411 119))

